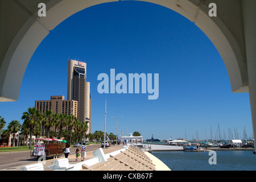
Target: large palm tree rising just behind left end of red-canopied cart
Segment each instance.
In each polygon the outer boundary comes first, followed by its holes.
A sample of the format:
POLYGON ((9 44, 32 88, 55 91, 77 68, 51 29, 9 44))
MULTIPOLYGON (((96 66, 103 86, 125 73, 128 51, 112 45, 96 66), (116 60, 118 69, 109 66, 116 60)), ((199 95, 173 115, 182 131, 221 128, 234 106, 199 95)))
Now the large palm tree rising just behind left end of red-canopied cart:
POLYGON ((30 149, 32 142, 32 134, 36 125, 40 123, 40 113, 39 110, 36 110, 35 107, 28 107, 26 112, 23 112, 22 119, 27 128, 30 130, 30 149))

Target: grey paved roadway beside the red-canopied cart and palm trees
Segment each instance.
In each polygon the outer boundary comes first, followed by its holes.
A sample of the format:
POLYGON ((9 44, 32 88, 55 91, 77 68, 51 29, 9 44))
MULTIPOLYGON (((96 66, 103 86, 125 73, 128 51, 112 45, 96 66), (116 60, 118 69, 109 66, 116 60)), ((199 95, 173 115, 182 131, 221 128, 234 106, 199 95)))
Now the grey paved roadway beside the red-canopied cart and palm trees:
MULTIPOLYGON (((87 151, 94 151, 100 148, 101 144, 92 144, 87 146, 87 151)), ((76 147, 71 147, 71 154, 74 155, 76 147)), ((62 155, 64 156, 64 154, 62 155)), ((36 158, 31 158, 30 151, 20 152, 0 152, 0 171, 15 170, 18 166, 26 166, 37 161, 36 158)))

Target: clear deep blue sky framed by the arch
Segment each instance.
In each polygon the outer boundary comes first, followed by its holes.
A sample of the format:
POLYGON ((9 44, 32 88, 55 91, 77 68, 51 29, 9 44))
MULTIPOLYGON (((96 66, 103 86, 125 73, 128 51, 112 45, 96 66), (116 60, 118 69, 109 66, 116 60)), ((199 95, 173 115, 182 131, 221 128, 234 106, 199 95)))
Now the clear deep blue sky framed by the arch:
MULTIPOLYGON (((194 23, 166 7, 146 2, 119 1, 89 7, 60 23, 36 49, 26 69, 19 100, 0 102, 3 118, 22 123, 22 113, 35 100, 67 98, 68 59, 87 64, 92 97, 92 132, 144 139, 213 138, 218 129, 243 128, 252 136, 248 93, 232 93, 224 62, 212 42, 194 23), (159 73, 159 97, 148 94, 100 94, 97 76, 115 73, 159 73), (186 131, 186 132, 185 132, 186 131)), ((117 82, 116 82, 117 83, 117 82)), ((6 125, 7 127, 7 125, 6 125)), ((5 128, 6 128, 5 127, 5 128)), ((233 133, 234 134, 234 133, 233 133)))

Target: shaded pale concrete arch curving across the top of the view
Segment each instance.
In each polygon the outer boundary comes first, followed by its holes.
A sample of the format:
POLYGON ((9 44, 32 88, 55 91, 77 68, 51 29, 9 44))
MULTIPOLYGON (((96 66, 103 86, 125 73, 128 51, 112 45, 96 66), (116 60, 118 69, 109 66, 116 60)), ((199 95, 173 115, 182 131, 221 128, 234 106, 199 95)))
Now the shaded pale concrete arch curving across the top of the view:
MULTIPOLYGON (((0 101, 16 101, 27 65, 42 40, 69 16, 113 0, 1 1, 0 101), (47 16, 38 17, 44 2, 47 16), (4 16, 3 16, 4 15, 4 16), (10 23, 12 22, 12 23, 10 23)), ((241 0, 148 0, 185 16, 212 41, 229 74, 232 92, 248 92, 247 65, 241 0), (209 3, 217 5, 217 17, 208 15, 209 3)))

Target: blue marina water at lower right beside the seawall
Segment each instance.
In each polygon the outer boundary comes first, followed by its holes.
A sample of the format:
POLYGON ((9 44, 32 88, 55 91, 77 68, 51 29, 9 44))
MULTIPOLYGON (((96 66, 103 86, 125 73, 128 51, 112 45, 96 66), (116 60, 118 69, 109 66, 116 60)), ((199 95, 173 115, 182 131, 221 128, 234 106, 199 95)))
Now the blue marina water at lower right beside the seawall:
POLYGON ((216 164, 209 164, 209 152, 153 151, 172 171, 255 171, 252 151, 216 151, 216 164))

